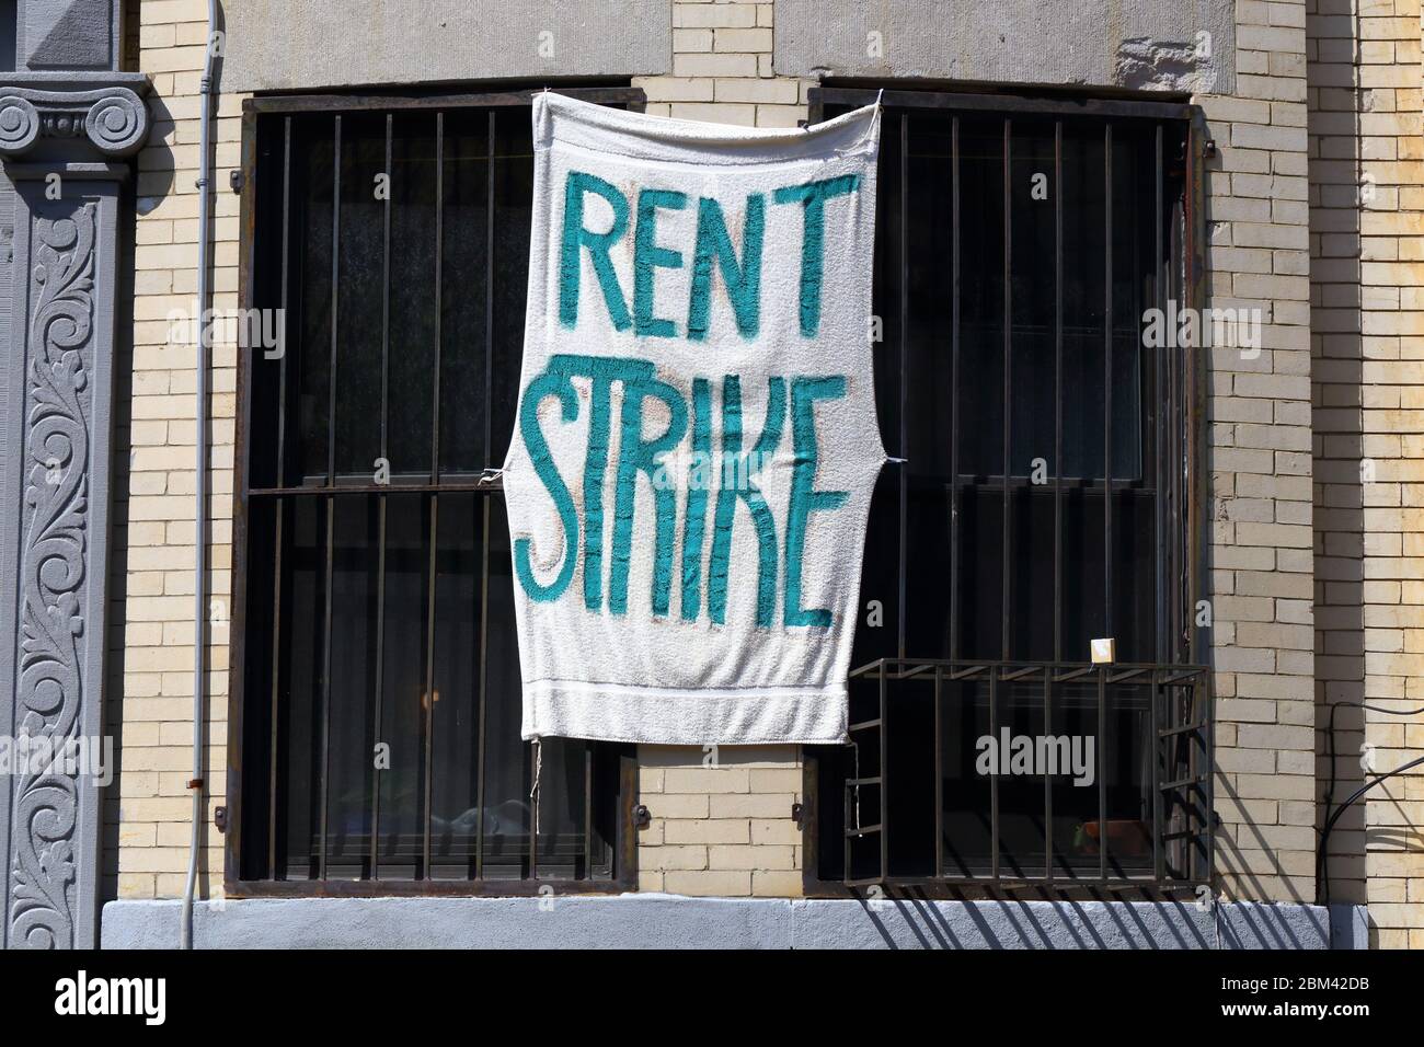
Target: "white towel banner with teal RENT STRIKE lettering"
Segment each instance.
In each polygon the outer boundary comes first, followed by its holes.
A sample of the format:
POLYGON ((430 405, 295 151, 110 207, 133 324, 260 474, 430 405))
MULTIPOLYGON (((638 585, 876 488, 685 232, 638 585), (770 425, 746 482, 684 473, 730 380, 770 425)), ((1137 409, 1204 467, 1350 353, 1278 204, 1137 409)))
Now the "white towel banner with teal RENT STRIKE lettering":
POLYGON ((842 742, 870 496, 879 108, 534 100, 504 462, 524 738, 842 742))

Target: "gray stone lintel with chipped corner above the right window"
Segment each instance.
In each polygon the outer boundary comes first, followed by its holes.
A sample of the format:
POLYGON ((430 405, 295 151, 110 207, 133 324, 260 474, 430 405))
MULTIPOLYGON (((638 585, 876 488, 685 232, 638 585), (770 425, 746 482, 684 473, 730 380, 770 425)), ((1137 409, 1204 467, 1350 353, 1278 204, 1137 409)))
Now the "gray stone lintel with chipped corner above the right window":
POLYGON ((782 75, 1229 93, 1233 0, 776 0, 782 75))

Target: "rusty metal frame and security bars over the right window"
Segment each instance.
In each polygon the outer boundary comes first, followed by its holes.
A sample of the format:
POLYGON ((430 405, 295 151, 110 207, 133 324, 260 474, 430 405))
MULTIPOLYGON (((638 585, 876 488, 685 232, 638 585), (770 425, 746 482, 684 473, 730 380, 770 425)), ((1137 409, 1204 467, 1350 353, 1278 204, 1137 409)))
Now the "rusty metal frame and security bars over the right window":
MULTIPOLYGON (((910 137, 914 134, 914 120, 917 114, 936 111, 948 115, 953 125, 953 214, 954 242, 953 242, 953 301, 947 308, 953 313, 951 335, 951 396, 958 400, 960 390, 960 118, 961 115, 984 121, 1002 121, 1002 158, 1004 158, 1004 396, 1005 405, 1010 402, 1010 359, 1012 323, 1008 319, 1008 285, 1010 285, 1010 226, 1011 208, 1008 199, 1008 170, 1011 154, 1011 127, 1015 118, 1031 118, 1035 123, 1052 121, 1054 125, 1054 208, 1055 208, 1055 258, 1054 293, 1057 298, 1055 312, 1055 402, 1058 417, 1055 422, 1055 466, 1054 466, 1054 661, 1017 661, 1011 657, 1010 623, 1012 613, 1008 603, 1008 527, 1010 527, 1010 487, 1012 472, 1007 462, 1000 477, 1004 486, 1004 591, 1000 595, 1000 608, 1004 613, 1004 650, 995 660, 973 660, 960 655, 960 631, 956 620, 961 620, 973 608, 958 607, 960 573, 958 540, 958 504, 961 483, 958 466, 951 466, 951 521, 948 527, 951 577, 956 580, 950 585, 950 650, 947 652, 910 651, 906 648, 906 577, 907 564, 906 548, 906 513, 907 513, 907 469, 903 462, 887 466, 899 469, 899 479, 893 481, 899 489, 900 514, 900 564, 899 564, 899 637, 897 657, 877 658, 852 670, 850 684, 854 688, 871 687, 874 701, 873 714, 852 722, 849 726, 850 744, 846 748, 853 754, 852 766, 856 768, 844 776, 827 773, 822 769, 823 755, 815 748, 806 751, 805 761, 805 795, 809 799, 807 811, 802 819, 805 833, 805 886, 809 893, 862 895, 874 887, 896 887, 909 892, 931 892, 960 896, 988 895, 998 896, 1022 889, 1032 889, 1052 895, 1075 896, 1082 892, 1089 895, 1101 889, 1135 889, 1155 893, 1173 893, 1183 889, 1190 890, 1196 885, 1209 883, 1213 875, 1215 853, 1215 809, 1213 809, 1213 715, 1210 694, 1210 671, 1205 661, 1208 658, 1208 644, 1203 630, 1199 627, 1195 608, 1198 600, 1206 590, 1206 541, 1205 527, 1205 499, 1206 499, 1206 470, 1205 456, 1205 390, 1206 390, 1206 362, 1205 353, 1173 349, 1165 366, 1155 366, 1155 395, 1162 403, 1162 412, 1156 420, 1158 429, 1163 433, 1165 450, 1155 449, 1155 460, 1143 462, 1143 469, 1153 469, 1153 489, 1156 511, 1153 514, 1156 527, 1156 556, 1153 587, 1158 604, 1158 630, 1155 638, 1153 662, 1092 665, 1064 660, 1062 650, 1062 477, 1058 476, 1062 462, 1062 353, 1064 353, 1064 225, 1059 187, 1062 165, 1062 131, 1068 121, 1088 123, 1101 128, 1104 135, 1105 179, 1104 191, 1108 202, 1104 208, 1108 231, 1105 245, 1108 254, 1108 276, 1105 279, 1106 302, 1105 309, 1105 359, 1104 373, 1104 480, 1102 480, 1102 543, 1104 543, 1104 591, 1106 594, 1106 615, 1112 621, 1114 588, 1112 571, 1112 499, 1116 480, 1114 479, 1114 446, 1112 446, 1112 135, 1114 127, 1124 121, 1135 125, 1143 124, 1155 127, 1155 207, 1156 207, 1156 275, 1153 276, 1152 296, 1156 305, 1165 305, 1173 296, 1183 306, 1200 309, 1205 303, 1205 221, 1203 221, 1203 192, 1205 171, 1203 157, 1208 148, 1205 124, 1200 111, 1186 103, 1176 101, 1129 101, 1108 98, 1068 98, 1068 97, 1021 97, 1015 94, 960 94, 951 91, 916 91, 896 90, 890 87, 883 93, 874 87, 816 87, 810 91, 810 123, 824 118, 827 107, 842 111, 856 105, 871 104, 880 98, 886 107, 886 120, 881 137, 881 164, 891 151, 899 154, 899 184, 891 187, 893 192, 884 192, 881 185, 881 207, 887 201, 894 201, 903 209, 910 192, 909 155, 910 137), (1182 191, 1175 204, 1163 199, 1163 164, 1171 157, 1165 157, 1165 150, 1171 148, 1169 140, 1180 142, 1179 154, 1175 157, 1182 165, 1182 191), (1180 221, 1176 229, 1180 244, 1162 241, 1163 207, 1179 207, 1180 221), (1163 254, 1175 252, 1172 262, 1163 264, 1163 254), (933 655, 933 657, 917 657, 933 655), (947 657, 944 657, 947 655, 947 657), (1105 748, 1105 728, 1108 708, 1112 702, 1109 695, 1115 688, 1146 688, 1151 698, 1146 705, 1151 717, 1151 734, 1148 735, 1148 752, 1143 762, 1151 764, 1151 868, 1145 872, 1124 872, 1119 868, 1109 869, 1108 846, 1098 846, 1098 862, 1095 869, 1058 868, 1058 852, 1054 849, 1052 836, 1052 788, 1051 781, 1044 775, 1044 840, 1042 840, 1042 869, 1041 875, 1025 875, 1020 869, 1005 870, 1001 862, 1001 811, 1000 811, 1000 776, 990 775, 990 859, 985 868, 974 868, 968 875, 961 868, 951 873, 946 862, 946 830, 944 830, 944 786, 943 749, 944 739, 941 722, 951 694, 963 698, 963 691, 956 691, 967 684, 987 688, 990 724, 1002 722, 995 717, 995 711, 1004 701, 1002 694, 1008 688, 1040 688, 1042 701, 1044 724, 1051 722, 1054 699, 1071 687, 1091 685, 1096 695, 1098 722, 1098 832, 1099 839, 1108 835, 1108 801, 1106 785, 1102 772, 1105 748), (931 689, 933 688, 933 689, 931 689), (934 803, 933 803, 933 833, 934 858, 933 873, 896 876, 891 869, 890 826, 891 826, 891 791, 890 791, 890 751, 887 745, 887 728, 893 725, 897 699, 913 698, 914 692, 923 697, 927 689, 933 694, 933 773, 934 773, 934 803), (840 795, 836 795, 832 778, 840 781, 840 795), (839 813, 836 813, 839 812, 839 813), (822 839, 829 828, 839 829, 840 839, 832 835, 822 839), (839 879, 822 879, 819 872, 822 848, 840 852, 839 860, 842 875, 839 879), (857 858, 853 850, 860 849, 857 858), (869 860, 866 853, 869 850, 869 860), (869 865, 869 870, 866 866, 869 865)), ((894 205, 894 204, 891 204, 894 205)), ((909 212, 901 211, 901 228, 909 221, 909 212)), ((901 323, 899 338, 901 345, 890 348, 900 353, 900 360, 907 359, 904 342, 907 323, 904 321, 907 305, 907 281, 904 274, 910 265, 906 241, 901 236, 899 258, 887 262, 897 265, 901 271, 899 281, 899 309, 901 323)), ((903 443, 907 368, 900 368, 899 419, 881 417, 883 430, 887 433, 887 446, 901 446, 901 450, 891 450, 893 454, 906 454, 903 443), (897 444, 889 433, 900 426, 900 443, 897 444)), ((1010 443, 1010 410, 1004 409, 1004 453, 1008 454, 1010 443)), ((957 419, 958 412, 954 412, 957 419)), ((956 430, 958 422, 954 423, 956 430)), ((960 437, 951 436, 953 456, 958 454, 960 437)), ((957 457, 953 462, 958 462, 957 457)), ((990 481, 994 477, 988 477, 990 481)), ((862 707, 864 708, 864 707, 862 707)), ((853 708, 852 719, 856 719, 853 708)), ((1045 726, 1045 731, 1048 728, 1045 726)), ((993 726, 991 726, 993 732, 993 726)), ((930 828, 930 826, 926 826, 930 828)))

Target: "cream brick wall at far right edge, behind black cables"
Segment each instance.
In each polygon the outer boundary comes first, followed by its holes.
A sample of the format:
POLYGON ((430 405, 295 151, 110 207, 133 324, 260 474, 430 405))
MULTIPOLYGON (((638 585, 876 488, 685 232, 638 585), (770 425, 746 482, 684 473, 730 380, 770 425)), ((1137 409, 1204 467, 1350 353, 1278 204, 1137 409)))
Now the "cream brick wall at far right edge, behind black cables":
MULTIPOLYGON (((1424 705, 1424 120, 1420 0, 1313 0, 1312 326, 1320 795, 1337 702, 1424 705)), ((1341 705, 1343 799, 1424 754, 1424 717, 1341 705)), ((1323 818, 1323 811, 1321 811, 1323 818)), ((1378 786, 1330 838, 1331 900, 1383 947, 1424 946, 1424 778, 1378 786)))

